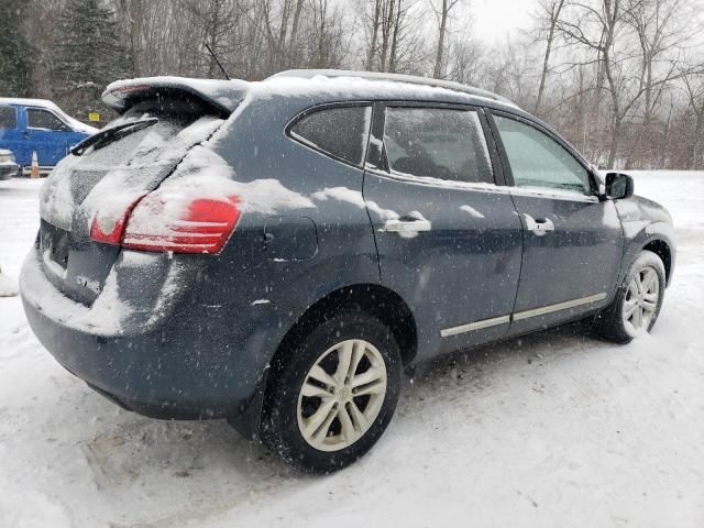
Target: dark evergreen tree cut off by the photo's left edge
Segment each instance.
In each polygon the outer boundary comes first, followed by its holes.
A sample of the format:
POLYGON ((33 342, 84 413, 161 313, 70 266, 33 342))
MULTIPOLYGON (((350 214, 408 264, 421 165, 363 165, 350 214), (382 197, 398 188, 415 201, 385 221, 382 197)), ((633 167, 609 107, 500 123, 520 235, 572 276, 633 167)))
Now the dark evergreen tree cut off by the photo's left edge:
POLYGON ((26 97, 32 91, 34 50, 22 33, 25 0, 0 2, 0 97, 26 97))

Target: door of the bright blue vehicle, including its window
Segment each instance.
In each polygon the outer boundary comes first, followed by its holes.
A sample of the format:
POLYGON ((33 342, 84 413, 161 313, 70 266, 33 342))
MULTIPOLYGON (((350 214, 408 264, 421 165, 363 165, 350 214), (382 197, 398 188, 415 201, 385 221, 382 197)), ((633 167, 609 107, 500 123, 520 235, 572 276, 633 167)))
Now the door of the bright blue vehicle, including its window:
POLYGON ((36 152, 41 166, 54 166, 68 154, 69 127, 53 112, 26 108, 26 136, 31 152, 36 152))

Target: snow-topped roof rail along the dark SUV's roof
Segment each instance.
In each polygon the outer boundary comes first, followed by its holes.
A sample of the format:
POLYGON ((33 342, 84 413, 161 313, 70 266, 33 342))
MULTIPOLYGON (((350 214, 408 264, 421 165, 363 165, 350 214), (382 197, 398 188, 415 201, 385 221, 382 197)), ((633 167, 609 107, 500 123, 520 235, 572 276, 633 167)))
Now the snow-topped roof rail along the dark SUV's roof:
POLYGON ((362 79, 370 80, 391 80, 395 82, 409 82, 413 85, 432 86, 436 88, 446 88, 448 90, 461 91, 471 96, 492 99, 494 101, 503 102, 505 105, 510 105, 514 107, 516 106, 516 103, 514 103, 512 100, 492 91, 482 90, 481 88, 474 88, 473 86, 463 85, 453 80, 430 79, 428 77, 418 77, 415 75, 386 74, 380 72, 355 72, 350 69, 288 69, 286 72, 279 72, 278 74, 272 75, 270 79, 277 77, 299 77, 304 79, 310 79, 317 76, 360 77, 362 79))

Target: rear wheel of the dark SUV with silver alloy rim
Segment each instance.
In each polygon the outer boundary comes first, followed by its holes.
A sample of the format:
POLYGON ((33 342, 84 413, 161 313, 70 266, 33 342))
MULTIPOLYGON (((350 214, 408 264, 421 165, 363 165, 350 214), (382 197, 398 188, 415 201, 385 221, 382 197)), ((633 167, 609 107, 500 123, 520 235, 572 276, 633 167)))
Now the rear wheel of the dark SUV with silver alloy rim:
POLYGON ((264 404, 262 440, 302 471, 330 473, 364 455, 388 426, 402 383, 388 328, 336 316, 279 354, 264 404))

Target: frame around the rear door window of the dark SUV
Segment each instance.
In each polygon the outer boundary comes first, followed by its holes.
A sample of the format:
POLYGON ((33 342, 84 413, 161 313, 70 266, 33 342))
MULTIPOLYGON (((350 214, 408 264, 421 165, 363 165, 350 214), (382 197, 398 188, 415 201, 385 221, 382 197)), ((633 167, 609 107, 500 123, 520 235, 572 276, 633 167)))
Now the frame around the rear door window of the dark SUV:
POLYGON ((426 102, 426 101, 380 101, 374 105, 374 116, 373 116, 373 124, 372 124, 372 133, 370 134, 370 146, 367 148, 367 158, 365 161, 365 168, 367 170, 373 170, 376 174, 393 177, 394 179, 414 182, 414 183, 429 183, 431 179, 436 179, 438 182, 442 182, 446 185, 455 186, 458 188, 472 188, 472 189, 483 189, 486 190, 487 187, 491 190, 491 187, 503 187, 506 184, 506 179, 504 176, 503 163, 499 157, 499 150, 497 147, 496 142, 493 141, 491 136, 491 128, 486 118, 486 112, 483 107, 471 106, 471 105, 458 105, 453 102, 426 102), (391 170, 388 158, 386 155, 386 146, 384 144, 384 128, 386 125, 386 109, 387 108, 428 108, 428 109, 447 109, 447 110, 459 110, 465 112, 475 112, 481 127, 483 136, 481 139, 484 140, 486 148, 490 154, 491 160, 491 169, 494 182, 492 184, 482 184, 482 183, 472 183, 472 182, 453 182, 446 180, 440 178, 431 178, 426 179, 424 177, 410 177, 407 175, 394 173, 391 170), (373 140, 376 139, 381 142, 382 148, 376 154, 377 158, 372 158, 374 156, 374 152, 371 145, 373 140))

